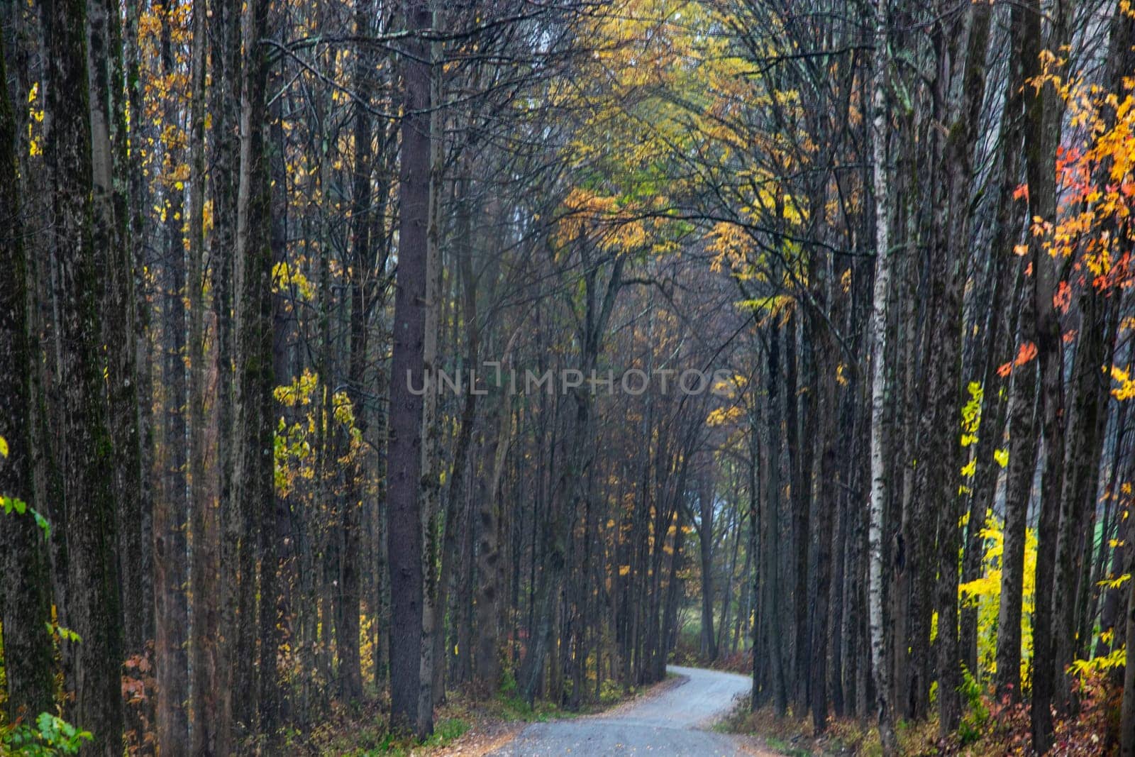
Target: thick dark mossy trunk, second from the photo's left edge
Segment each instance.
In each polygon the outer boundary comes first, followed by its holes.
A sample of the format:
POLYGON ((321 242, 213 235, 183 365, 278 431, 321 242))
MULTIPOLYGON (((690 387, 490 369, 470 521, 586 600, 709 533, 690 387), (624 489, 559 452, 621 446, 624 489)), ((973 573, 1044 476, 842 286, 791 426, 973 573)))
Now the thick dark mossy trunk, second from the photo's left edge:
POLYGON ((50 61, 45 153, 54 183, 51 249, 57 272, 64 428, 60 469, 66 513, 68 625, 83 639, 67 645, 75 705, 70 720, 89 729, 85 752, 123 751, 117 503, 114 444, 107 426, 99 298, 103 291, 92 237, 93 167, 84 0, 43 8, 50 61))

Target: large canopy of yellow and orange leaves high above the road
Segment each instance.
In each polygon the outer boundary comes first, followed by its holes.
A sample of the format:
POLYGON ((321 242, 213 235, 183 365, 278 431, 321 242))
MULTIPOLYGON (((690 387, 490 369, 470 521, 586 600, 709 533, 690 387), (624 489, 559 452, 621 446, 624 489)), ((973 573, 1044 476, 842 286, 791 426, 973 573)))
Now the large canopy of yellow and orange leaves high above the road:
MULTIPOLYGON (((754 269, 743 226, 773 218, 777 227, 788 228, 808 221, 808 205, 792 196, 782 179, 802 170, 800 163, 817 150, 794 126, 804 123, 800 93, 768 87, 749 60, 754 53, 783 54, 785 43, 772 37, 759 51, 742 50, 730 32, 735 24, 713 3, 616 0, 587 22, 583 34, 591 54, 575 82, 550 85, 553 107, 582 113, 565 160, 602 177, 588 186, 596 195, 619 197, 620 212, 613 219, 619 228, 600 235, 607 250, 645 247, 667 254, 679 247, 672 239, 657 242, 654 234, 681 224, 664 217, 671 205, 663 190, 688 196, 712 186, 729 195, 724 200, 737 225, 729 230, 721 226, 709 241, 715 243, 714 266, 729 266, 734 276, 753 275, 754 269), (784 112, 784 123, 792 126, 784 133, 754 128, 749 113, 766 107, 784 112), (728 180, 713 171, 689 170, 681 157, 691 154, 729 166, 728 180), (654 212, 656 222, 632 220, 642 208, 654 212)), ((614 212, 608 208, 599 217, 614 212)), ((564 224, 561 243, 578 230, 578 225, 564 224)))

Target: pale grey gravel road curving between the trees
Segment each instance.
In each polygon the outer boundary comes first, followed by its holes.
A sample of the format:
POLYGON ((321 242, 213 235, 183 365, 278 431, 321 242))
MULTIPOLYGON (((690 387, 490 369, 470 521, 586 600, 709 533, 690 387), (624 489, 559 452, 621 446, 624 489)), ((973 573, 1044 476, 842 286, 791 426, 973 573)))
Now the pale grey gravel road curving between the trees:
POLYGON ((670 666, 678 685, 594 717, 526 727, 497 757, 529 755, 662 755, 717 757, 751 755, 726 733, 704 729, 733 707, 753 685, 745 675, 670 666))

